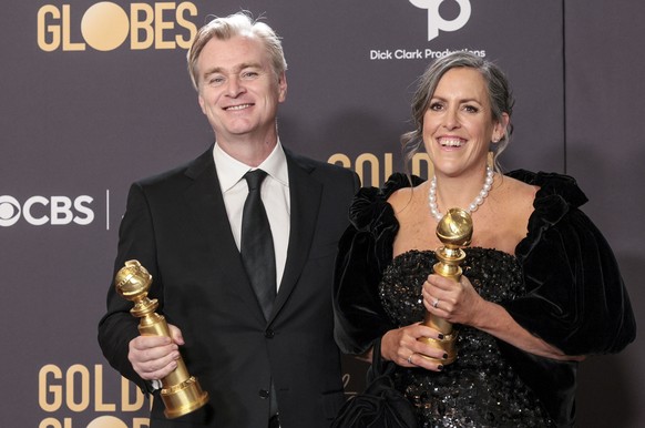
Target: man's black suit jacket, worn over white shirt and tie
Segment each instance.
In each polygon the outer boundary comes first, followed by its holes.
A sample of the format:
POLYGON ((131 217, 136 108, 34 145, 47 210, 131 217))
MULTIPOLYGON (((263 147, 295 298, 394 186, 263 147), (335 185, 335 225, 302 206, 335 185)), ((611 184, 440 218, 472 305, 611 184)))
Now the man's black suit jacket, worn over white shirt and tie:
MULTIPOLYGON (((157 313, 182 329, 184 361, 211 396, 205 408, 175 420, 155 399, 152 428, 265 428, 270 376, 283 428, 328 427, 344 402, 331 276, 358 177, 286 153, 289 246, 268 323, 233 238, 212 149, 130 190, 114 272, 139 259, 152 274, 157 313)), ((111 286, 99 342, 114 368, 150 390, 127 360, 127 344, 139 335, 131 307, 111 286)))

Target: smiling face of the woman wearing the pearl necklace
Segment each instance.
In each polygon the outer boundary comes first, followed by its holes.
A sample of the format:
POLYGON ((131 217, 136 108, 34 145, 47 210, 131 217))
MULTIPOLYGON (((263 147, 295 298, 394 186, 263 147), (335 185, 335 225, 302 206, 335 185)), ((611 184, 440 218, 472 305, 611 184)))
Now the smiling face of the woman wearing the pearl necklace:
POLYGON ((436 174, 481 176, 491 141, 508 124, 492 119, 485 81, 471 68, 451 69, 439 81, 423 115, 423 143, 436 174))

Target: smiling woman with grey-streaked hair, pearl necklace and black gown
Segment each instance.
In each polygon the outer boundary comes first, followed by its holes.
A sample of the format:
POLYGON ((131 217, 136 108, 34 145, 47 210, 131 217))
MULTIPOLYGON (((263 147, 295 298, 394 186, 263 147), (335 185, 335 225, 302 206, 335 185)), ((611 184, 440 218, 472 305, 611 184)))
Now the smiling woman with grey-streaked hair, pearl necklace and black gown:
POLYGON ((421 427, 570 427, 579 361, 635 337, 615 257, 575 181, 495 171, 512 106, 493 63, 467 52, 437 60, 402 137, 411 152, 424 147, 431 181, 393 174, 361 190, 340 242, 337 340, 389 361, 421 427), (455 207, 470 212, 471 247, 463 275, 439 275, 440 212, 455 207))

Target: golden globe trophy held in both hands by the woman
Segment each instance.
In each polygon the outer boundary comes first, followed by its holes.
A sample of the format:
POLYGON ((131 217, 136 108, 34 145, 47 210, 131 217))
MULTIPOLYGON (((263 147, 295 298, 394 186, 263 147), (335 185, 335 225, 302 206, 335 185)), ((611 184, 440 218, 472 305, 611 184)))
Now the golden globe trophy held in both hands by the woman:
MULTIPOLYGON (((432 266, 432 269, 438 275, 459 282, 462 272, 459 265, 465 258, 465 253, 461 247, 469 246, 472 238, 472 218, 470 214, 461 208, 449 210, 437 225, 437 237, 439 237, 443 246, 436 252, 439 262, 432 266)), ((453 363, 457 359, 457 347, 454 344, 458 332, 452 329, 452 324, 426 312, 423 325, 441 332, 443 339, 421 337, 419 340, 436 348, 443 349, 448 355, 446 359, 428 356, 424 356, 424 358, 442 365, 453 363)))

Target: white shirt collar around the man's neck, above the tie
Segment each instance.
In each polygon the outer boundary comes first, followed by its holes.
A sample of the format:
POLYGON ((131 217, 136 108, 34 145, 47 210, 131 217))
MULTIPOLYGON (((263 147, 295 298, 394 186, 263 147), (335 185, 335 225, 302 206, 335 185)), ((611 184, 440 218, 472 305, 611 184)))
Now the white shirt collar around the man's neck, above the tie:
MULTIPOLYGON (((222 192, 227 192, 236 185, 248 171, 254 170, 252 166, 239 162, 228 153, 224 152, 217 143, 213 147, 213 159, 215 160, 215 169, 217 171, 217 179, 222 192)), ((289 186, 289 174, 287 170, 287 156, 278 140, 273 152, 258 165, 258 169, 265 171, 273 179, 280 184, 289 186)))

